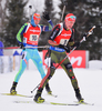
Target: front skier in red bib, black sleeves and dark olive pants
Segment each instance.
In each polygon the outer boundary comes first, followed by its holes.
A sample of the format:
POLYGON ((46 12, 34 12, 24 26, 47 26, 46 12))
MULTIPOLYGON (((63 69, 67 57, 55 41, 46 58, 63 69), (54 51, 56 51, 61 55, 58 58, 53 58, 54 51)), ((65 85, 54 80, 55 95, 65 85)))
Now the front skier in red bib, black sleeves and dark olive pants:
MULTIPOLYGON (((74 30, 72 29, 75 22, 75 16, 69 13, 65 16, 64 22, 59 23, 54 27, 48 42, 51 44, 51 65, 48 69, 47 75, 42 79, 40 87, 38 88, 37 94, 34 95, 34 101, 37 103, 44 102, 44 99, 41 98, 41 93, 48 81, 52 78, 55 71, 55 63, 60 63, 65 57, 67 52, 70 52, 71 48, 79 47, 80 42, 74 42, 74 30)), ((71 80, 72 87, 75 91, 75 97, 79 102, 83 102, 83 98, 80 93, 76 78, 73 72, 72 64, 67 58, 61 67, 67 72, 68 77, 71 80)))

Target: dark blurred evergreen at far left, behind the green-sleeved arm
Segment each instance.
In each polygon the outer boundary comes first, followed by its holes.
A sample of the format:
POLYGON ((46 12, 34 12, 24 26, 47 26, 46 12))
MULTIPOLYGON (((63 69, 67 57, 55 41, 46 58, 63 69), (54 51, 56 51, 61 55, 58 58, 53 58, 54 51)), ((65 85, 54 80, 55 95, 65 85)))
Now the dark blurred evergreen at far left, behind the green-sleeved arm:
POLYGON ((16 36, 21 26, 27 22, 23 0, 8 0, 3 21, 2 39, 4 47, 17 46, 16 36))

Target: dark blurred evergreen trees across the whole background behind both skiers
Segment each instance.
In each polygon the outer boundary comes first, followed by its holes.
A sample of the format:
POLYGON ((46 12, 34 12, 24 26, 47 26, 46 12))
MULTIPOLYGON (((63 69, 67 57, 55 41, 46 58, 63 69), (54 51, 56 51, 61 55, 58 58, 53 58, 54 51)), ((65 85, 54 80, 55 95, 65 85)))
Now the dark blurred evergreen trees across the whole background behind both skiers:
MULTIPOLYGON (((6 0, 4 10, 2 10, 0 0, 0 39, 3 41, 4 47, 17 46, 16 34, 20 27, 28 21, 24 7, 28 3, 26 0, 6 0), (8 42, 7 42, 8 41, 8 42)), ((34 2, 34 1, 33 1, 34 2)), ((54 0, 44 0, 44 11, 50 13, 50 18, 54 26, 59 23, 60 18, 55 17, 57 10, 53 7, 54 0)), ((60 12, 62 16, 62 9, 65 4, 65 12, 76 16, 76 22, 74 24, 75 41, 80 41, 82 36, 90 30, 91 27, 96 26, 92 36, 88 38, 85 42, 81 44, 78 50, 89 50, 90 60, 102 59, 102 0, 60 0, 60 12)), ((42 12, 42 13, 43 13, 42 12)), ((41 18, 42 24, 47 24, 47 20, 41 18)), ((39 46, 47 44, 47 40, 51 32, 42 32, 39 46)))

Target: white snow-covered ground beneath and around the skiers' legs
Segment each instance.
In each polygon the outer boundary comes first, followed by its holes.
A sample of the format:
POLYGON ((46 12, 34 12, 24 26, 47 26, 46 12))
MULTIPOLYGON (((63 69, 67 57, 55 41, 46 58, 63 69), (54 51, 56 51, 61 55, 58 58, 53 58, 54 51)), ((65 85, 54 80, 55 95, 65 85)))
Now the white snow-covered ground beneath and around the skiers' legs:
MULTIPOLYGON (((0 73, 0 93, 10 91, 17 71, 0 73)), ((33 101, 33 98, 11 97, 0 94, 0 111, 102 111, 102 70, 101 69, 74 69, 75 77, 84 101, 94 105, 51 105, 38 103, 14 103, 14 101, 33 101)), ((32 95, 31 90, 41 81, 38 70, 26 70, 22 74, 17 91, 20 94, 32 95)), ((62 69, 55 71, 50 80, 53 94, 48 95, 43 90, 42 97, 50 102, 73 103, 76 101, 70 79, 62 69)), ((33 92, 35 94, 37 90, 33 92)))

